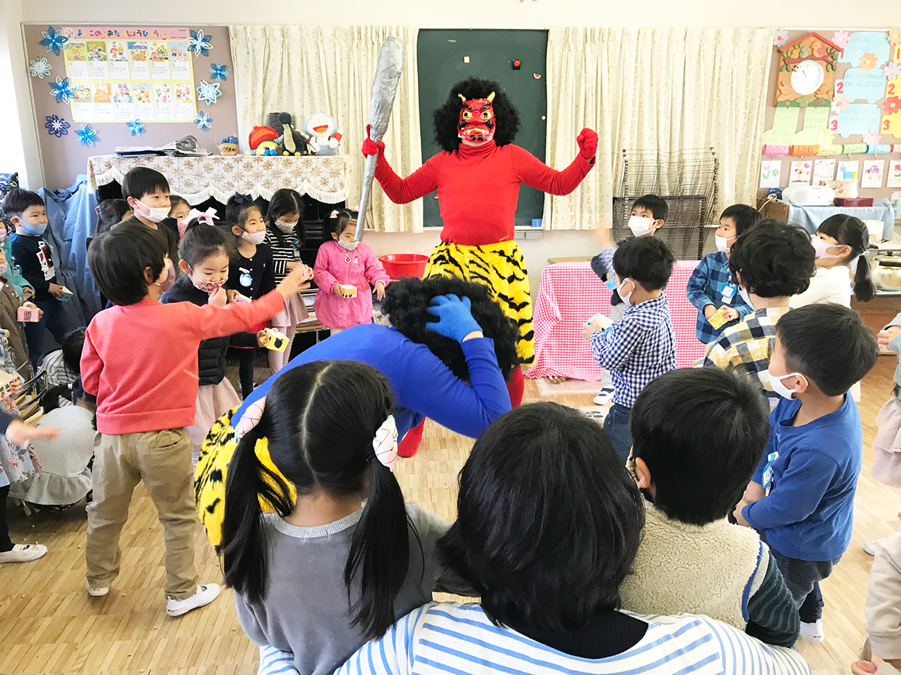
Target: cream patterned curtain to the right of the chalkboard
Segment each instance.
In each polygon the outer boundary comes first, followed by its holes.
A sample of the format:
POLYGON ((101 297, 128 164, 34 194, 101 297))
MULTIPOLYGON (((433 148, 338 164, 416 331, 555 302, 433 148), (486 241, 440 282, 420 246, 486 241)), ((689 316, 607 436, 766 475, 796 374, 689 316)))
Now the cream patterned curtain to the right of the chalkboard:
POLYGON ((582 127, 597 165, 569 196, 547 196, 551 229, 588 229, 611 215, 623 149, 712 147, 719 205, 755 203, 772 29, 551 28, 547 162, 562 169, 582 127))

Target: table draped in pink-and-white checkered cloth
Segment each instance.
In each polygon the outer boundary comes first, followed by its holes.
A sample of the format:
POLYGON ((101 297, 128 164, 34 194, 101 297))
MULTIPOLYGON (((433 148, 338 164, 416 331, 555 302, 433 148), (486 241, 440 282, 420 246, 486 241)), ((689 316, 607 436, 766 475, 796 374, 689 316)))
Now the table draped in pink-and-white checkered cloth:
MULTIPOLYGON (((705 354, 695 334, 697 308, 688 302, 685 287, 697 260, 678 260, 667 286, 669 315, 676 332, 676 363, 691 366, 705 354)), ((582 337, 585 322, 601 312, 610 314, 610 291, 587 262, 559 262, 542 271, 535 303, 535 362, 527 378, 558 377, 596 382, 603 369, 582 337)))

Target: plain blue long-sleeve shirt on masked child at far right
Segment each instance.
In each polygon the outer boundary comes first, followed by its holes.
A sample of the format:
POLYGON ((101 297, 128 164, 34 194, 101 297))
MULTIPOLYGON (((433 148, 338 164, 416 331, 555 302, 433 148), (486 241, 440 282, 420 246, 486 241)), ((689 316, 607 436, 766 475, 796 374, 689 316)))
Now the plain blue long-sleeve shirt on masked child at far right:
POLYGON ((851 543, 854 493, 863 458, 857 405, 842 406, 802 426, 792 426, 801 402, 782 399, 769 414, 769 442, 753 480, 763 482, 769 454, 772 487, 767 497, 742 509, 770 548, 788 558, 832 561, 851 543))

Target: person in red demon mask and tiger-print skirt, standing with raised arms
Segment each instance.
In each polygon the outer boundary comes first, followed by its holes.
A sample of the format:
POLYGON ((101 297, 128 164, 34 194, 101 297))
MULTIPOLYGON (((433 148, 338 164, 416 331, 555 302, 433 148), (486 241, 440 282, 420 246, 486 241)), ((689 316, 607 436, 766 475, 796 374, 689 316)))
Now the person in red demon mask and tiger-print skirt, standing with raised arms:
MULTIPOLYGON (((594 166, 597 134, 583 129, 576 159, 557 171, 513 144, 518 128, 518 114, 497 84, 469 78, 451 89, 448 101, 435 113, 435 138, 444 150, 409 177, 400 178, 391 169, 384 143, 368 138, 363 154, 378 154, 376 179, 396 204, 438 191, 444 226, 425 276, 455 276, 491 288, 505 315, 518 326, 519 357, 531 363, 535 351, 529 275, 514 242, 519 188, 525 183, 551 195, 569 195, 594 166), (455 108, 458 113, 453 112, 455 108), (457 117, 456 125, 453 117, 457 117)), ((512 403, 519 405, 521 369, 514 369, 508 388, 512 403)), ((421 437, 422 426, 407 433, 401 454, 414 452, 417 432, 421 437)))

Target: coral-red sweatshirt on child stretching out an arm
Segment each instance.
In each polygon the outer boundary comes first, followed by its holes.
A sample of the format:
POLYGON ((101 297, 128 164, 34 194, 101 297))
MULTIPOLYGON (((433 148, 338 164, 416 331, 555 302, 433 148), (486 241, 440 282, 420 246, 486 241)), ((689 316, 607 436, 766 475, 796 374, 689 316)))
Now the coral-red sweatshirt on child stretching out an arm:
POLYGON ((105 309, 87 326, 81 352, 82 385, 97 397, 97 430, 138 433, 194 424, 200 342, 246 331, 284 307, 271 291, 249 305, 163 305, 146 297, 105 309))

